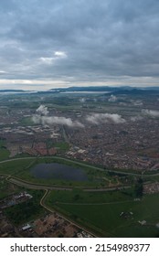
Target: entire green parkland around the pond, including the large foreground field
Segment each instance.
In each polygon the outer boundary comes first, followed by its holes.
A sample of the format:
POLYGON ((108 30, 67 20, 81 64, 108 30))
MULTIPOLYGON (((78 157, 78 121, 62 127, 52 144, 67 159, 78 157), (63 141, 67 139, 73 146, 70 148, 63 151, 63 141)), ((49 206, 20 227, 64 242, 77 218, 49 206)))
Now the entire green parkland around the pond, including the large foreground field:
MULTIPOLYGON (((158 194, 143 194, 140 178, 135 173, 134 176, 123 176, 120 173, 110 175, 110 172, 101 168, 60 157, 28 157, 1 161, 0 174, 5 176, 5 182, 1 184, 1 197, 7 196, 6 187, 9 195, 11 184, 15 184, 17 190, 25 187, 35 193, 35 202, 29 202, 30 205, 24 203, 20 211, 19 206, 5 210, 10 219, 15 219, 18 211, 15 224, 21 223, 20 216, 26 221, 34 219, 44 214, 47 208, 90 230, 95 236, 159 236, 158 194), (69 169, 82 169, 87 180, 68 181, 62 176, 41 178, 34 176, 30 171, 37 165, 53 163, 68 165, 69 169), (127 184, 124 180, 127 180, 127 184), (45 190, 48 193, 44 197, 45 190), (39 206, 42 197, 44 208, 39 206), (28 208, 32 209, 32 215, 26 214, 28 208)), ((145 180, 147 179, 146 177, 145 180)))

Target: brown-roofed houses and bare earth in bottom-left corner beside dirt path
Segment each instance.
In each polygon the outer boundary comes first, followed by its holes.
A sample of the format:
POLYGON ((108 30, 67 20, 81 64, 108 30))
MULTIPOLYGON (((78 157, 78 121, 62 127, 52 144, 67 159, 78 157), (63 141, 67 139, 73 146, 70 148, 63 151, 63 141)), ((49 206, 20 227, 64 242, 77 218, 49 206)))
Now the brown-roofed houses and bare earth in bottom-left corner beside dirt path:
POLYGON ((26 237, 26 238, 90 238, 90 233, 78 228, 73 223, 60 217, 56 212, 15 226, 5 217, 3 209, 0 210, 0 237, 26 237))

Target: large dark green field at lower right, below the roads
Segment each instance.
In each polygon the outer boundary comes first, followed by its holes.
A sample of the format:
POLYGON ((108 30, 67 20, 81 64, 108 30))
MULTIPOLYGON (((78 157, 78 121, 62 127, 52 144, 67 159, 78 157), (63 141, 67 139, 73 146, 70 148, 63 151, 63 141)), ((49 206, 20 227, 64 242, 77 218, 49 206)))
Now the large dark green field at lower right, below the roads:
POLYGON ((134 201, 132 191, 123 192, 56 191, 48 195, 46 204, 102 237, 158 237, 159 195, 134 201), (139 223, 142 220, 145 225, 139 223))

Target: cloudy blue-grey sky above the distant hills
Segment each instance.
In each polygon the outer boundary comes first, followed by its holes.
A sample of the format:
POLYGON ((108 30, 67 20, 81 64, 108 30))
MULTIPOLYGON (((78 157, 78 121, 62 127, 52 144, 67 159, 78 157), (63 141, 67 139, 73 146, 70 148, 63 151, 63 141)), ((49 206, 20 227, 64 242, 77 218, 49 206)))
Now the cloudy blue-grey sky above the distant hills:
POLYGON ((158 0, 0 0, 0 90, 158 86, 158 0))

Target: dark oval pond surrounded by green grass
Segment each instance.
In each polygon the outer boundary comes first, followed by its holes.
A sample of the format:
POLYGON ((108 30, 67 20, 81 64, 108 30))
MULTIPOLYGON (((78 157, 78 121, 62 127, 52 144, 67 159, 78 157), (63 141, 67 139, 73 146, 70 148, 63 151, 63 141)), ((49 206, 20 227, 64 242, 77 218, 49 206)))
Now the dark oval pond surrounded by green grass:
POLYGON ((72 181, 87 181, 88 176, 82 169, 69 165, 57 163, 38 164, 30 169, 33 176, 37 178, 54 178, 72 181))

